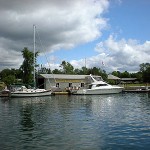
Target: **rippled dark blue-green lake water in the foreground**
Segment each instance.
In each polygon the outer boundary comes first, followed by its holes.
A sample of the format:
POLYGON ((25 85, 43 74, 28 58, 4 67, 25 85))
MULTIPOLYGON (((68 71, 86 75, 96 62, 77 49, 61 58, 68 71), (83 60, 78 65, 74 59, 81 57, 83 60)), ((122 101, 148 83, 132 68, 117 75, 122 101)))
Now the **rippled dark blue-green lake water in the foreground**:
POLYGON ((148 150, 148 94, 0 98, 0 150, 148 150))

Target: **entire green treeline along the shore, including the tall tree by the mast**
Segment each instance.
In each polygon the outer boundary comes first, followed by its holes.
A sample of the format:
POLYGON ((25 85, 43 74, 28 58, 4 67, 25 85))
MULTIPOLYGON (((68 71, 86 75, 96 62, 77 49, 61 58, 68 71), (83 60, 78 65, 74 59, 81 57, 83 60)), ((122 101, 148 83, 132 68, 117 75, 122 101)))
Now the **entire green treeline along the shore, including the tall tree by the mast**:
MULTIPOLYGON (((29 51, 26 47, 22 51, 24 61, 19 69, 4 69, 0 72, 1 81, 5 82, 7 85, 22 82, 24 84, 29 84, 33 82, 33 53, 29 51)), ((38 53, 36 53, 36 57, 38 53)), ((120 72, 113 71, 111 74, 119 78, 137 78, 140 82, 150 83, 150 63, 140 64, 140 70, 136 73, 129 73, 128 71, 120 72)), ((75 69, 69 62, 62 61, 60 64, 60 69, 51 70, 50 68, 45 68, 36 65, 36 75, 38 74, 76 74, 76 75, 100 75, 104 80, 107 80, 107 73, 98 67, 87 68, 82 67, 81 69, 75 69)))

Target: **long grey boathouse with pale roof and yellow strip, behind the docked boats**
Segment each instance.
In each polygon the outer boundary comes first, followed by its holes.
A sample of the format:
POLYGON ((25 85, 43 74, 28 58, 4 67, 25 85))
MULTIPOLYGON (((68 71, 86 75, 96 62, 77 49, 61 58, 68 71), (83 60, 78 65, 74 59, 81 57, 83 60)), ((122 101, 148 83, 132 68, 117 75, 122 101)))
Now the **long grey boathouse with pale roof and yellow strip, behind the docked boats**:
MULTIPOLYGON (((102 80, 101 76, 94 76, 97 80, 102 80)), ((87 86, 91 83, 90 75, 69 75, 69 74, 40 74, 38 76, 38 87, 45 89, 57 89, 65 91, 66 89, 77 89, 87 86)))

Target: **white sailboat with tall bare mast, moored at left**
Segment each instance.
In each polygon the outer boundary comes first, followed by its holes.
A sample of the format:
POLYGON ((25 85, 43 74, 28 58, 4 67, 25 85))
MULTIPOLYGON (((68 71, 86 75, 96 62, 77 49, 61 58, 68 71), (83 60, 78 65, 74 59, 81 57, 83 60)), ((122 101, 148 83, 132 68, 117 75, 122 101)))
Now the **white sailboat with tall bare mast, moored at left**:
MULTIPOLYGON (((33 25, 34 30, 34 54, 35 54, 35 25, 33 25)), ((34 83, 35 83, 35 55, 34 55, 34 83)), ((19 90, 14 90, 11 92, 11 97, 37 97, 37 96, 49 96, 52 95, 51 90, 45 90, 45 89, 27 89, 25 86, 22 86, 19 90)))

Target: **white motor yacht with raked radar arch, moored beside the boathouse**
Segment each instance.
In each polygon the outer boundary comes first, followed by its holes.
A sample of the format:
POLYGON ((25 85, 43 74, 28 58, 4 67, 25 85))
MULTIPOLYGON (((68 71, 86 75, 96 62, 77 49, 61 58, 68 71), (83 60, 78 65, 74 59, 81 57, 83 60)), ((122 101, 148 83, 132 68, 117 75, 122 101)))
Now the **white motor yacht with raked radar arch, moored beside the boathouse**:
POLYGON ((94 95, 94 94, 116 94, 123 91, 123 87, 112 86, 104 81, 97 81, 92 75, 90 75, 93 82, 88 85, 88 88, 79 89, 73 94, 77 95, 94 95))

